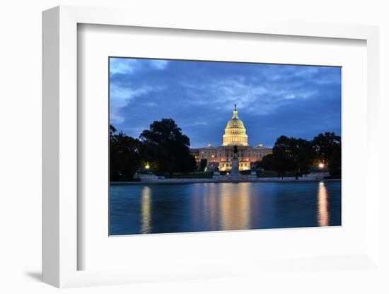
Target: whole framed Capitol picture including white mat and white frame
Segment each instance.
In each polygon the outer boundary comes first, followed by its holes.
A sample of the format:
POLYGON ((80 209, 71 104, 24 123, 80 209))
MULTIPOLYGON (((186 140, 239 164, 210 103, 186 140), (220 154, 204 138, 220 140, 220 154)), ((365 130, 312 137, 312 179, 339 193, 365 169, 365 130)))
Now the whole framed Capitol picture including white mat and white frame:
POLYGON ((165 20, 43 13, 43 280, 379 271, 378 28, 165 20))

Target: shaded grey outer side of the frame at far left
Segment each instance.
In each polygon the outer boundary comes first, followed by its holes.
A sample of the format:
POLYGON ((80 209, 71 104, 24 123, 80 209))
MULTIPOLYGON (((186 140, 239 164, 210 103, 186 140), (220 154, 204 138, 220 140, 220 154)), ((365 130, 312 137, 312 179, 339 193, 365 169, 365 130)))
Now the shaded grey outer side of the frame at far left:
POLYGON ((59 287, 59 7, 42 13, 42 281, 59 287))

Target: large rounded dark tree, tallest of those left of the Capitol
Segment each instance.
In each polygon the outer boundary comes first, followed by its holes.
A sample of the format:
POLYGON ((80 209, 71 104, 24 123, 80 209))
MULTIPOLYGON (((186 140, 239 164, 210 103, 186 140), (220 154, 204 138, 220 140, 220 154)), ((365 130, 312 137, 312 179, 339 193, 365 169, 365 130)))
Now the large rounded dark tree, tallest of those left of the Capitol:
POLYGON ((190 172, 196 168, 196 161, 190 155, 190 139, 182 134, 173 119, 161 119, 142 131, 142 155, 158 172, 190 172))

